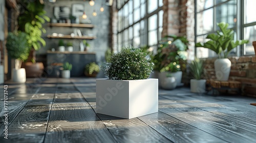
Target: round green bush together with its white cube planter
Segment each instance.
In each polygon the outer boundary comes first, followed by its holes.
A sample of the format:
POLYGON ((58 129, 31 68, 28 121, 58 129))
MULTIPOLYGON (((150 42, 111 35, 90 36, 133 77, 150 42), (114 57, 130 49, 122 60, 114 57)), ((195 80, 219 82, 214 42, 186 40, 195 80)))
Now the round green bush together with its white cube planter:
POLYGON ((108 79, 96 79, 96 112, 133 118, 158 112, 158 79, 141 49, 126 46, 104 65, 108 79))

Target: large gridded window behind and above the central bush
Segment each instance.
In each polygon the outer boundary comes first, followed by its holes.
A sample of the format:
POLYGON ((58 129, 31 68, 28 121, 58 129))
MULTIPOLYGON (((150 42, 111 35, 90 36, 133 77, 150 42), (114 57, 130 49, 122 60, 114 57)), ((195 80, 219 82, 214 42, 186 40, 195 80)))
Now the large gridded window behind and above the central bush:
POLYGON ((127 44, 157 47, 163 23, 162 0, 117 1, 118 50, 127 44))

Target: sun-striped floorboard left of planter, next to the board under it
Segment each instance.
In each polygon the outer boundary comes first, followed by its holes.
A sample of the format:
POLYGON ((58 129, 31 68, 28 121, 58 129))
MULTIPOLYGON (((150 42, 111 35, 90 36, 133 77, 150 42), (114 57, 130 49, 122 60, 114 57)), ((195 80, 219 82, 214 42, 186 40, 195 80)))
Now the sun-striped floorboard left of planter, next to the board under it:
POLYGON ((73 84, 58 84, 45 142, 115 142, 73 84))

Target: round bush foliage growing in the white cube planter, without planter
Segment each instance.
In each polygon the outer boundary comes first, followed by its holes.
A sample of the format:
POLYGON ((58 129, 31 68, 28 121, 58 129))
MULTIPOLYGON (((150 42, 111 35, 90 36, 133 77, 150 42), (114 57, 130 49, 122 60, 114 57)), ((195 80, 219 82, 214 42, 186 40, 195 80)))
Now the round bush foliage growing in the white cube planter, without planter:
POLYGON ((122 47, 121 51, 107 60, 104 73, 111 80, 147 79, 153 69, 153 63, 146 53, 137 47, 122 47))

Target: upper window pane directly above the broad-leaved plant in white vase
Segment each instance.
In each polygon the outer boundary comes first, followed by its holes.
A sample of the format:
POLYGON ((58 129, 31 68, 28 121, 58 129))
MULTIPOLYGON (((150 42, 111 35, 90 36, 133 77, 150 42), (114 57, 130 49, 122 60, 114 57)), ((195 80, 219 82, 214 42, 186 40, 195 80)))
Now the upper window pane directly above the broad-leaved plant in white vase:
POLYGON ((229 24, 228 28, 236 26, 237 0, 217 6, 216 10, 216 22, 227 22, 229 24))

